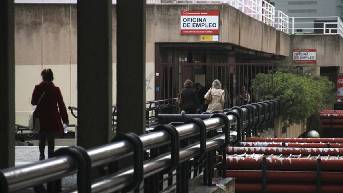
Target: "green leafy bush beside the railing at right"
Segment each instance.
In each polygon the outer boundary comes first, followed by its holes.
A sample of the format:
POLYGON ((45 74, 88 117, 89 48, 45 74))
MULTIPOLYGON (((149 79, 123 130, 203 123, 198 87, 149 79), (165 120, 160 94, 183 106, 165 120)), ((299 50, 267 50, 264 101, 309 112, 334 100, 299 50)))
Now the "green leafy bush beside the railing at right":
POLYGON ((261 101, 280 99, 281 115, 289 125, 306 121, 324 104, 335 101, 334 84, 327 77, 311 75, 311 71, 303 72, 292 66, 279 67, 273 75, 271 71, 269 75, 258 74, 252 80, 252 88, 261 101))

